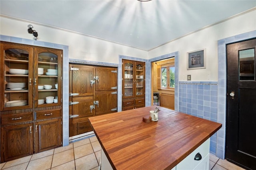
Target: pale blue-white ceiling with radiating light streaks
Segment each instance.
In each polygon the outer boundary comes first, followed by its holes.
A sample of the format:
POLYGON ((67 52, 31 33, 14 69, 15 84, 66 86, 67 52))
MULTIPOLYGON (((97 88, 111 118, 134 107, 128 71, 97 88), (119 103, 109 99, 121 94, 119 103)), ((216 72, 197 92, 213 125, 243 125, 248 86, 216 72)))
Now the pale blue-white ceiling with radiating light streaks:
POLYGON ((0 0, 2 16, 146 51, 255 7, 256 0, 0 0))

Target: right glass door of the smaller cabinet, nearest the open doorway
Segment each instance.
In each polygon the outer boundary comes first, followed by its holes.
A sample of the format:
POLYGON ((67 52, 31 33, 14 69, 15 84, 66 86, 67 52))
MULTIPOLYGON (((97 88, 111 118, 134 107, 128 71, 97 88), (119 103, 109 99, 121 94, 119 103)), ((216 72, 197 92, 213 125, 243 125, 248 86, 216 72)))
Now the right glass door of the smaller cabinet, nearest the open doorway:
POLYGON ((144 92, 144 65, 142 63, 136 62, 136 77, 135 77, 135 96, 143 96, 144 92))

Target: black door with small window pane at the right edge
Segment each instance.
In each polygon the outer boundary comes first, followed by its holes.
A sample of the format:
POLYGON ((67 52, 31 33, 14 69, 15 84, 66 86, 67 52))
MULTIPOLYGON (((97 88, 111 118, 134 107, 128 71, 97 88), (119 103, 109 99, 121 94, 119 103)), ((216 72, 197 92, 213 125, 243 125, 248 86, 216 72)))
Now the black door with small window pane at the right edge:
POLYGON ((226 159, 256 169, 256 39, 227 45, 226 159))

